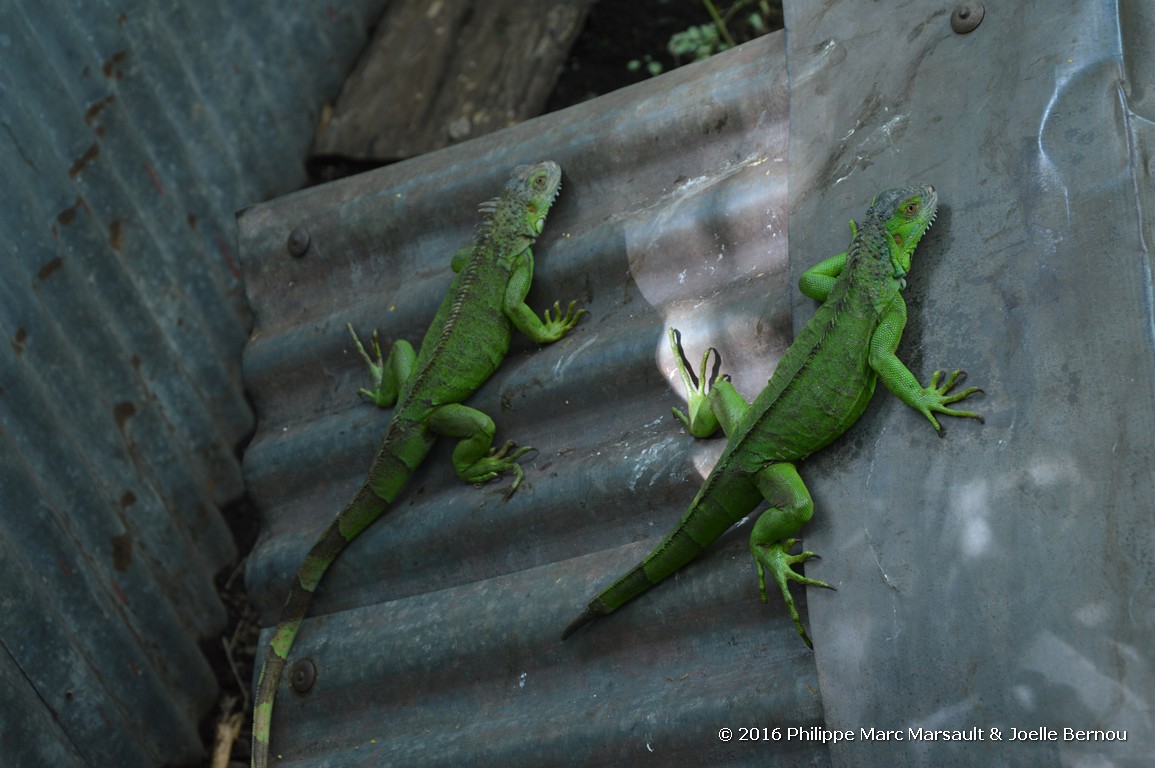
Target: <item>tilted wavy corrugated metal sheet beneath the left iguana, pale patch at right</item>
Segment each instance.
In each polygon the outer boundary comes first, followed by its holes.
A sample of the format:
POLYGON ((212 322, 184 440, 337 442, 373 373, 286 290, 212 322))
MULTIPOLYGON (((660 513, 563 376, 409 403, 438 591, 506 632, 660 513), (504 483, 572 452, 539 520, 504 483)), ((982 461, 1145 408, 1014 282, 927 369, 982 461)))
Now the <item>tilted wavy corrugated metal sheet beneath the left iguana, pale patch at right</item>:
POLYGON ((240 216, 260 415, 245 472, 264 514, 247 579, 267 624, 388 418, 355 394, 365 372, 344 323, 419 340, 449 255, 514 165, 564 170, 531 305, 590 310, 557 344, 515 342, 470 400, 499 439, 538 449, 517 493, 463 486, 440 445, 327 575, 292 654, 316 683, 278 694, 282 765, 826 765, 819 743, 718 738, 821 724, 812 656, 760 602, 743 529, 559 641, 677 521, 722 447, 670 415, 666 327, 695 352, 718 346, 747 393, 789 341, 783 50, 772 35, 240 216), (297 228, 300 258, 286 247, 297 228))

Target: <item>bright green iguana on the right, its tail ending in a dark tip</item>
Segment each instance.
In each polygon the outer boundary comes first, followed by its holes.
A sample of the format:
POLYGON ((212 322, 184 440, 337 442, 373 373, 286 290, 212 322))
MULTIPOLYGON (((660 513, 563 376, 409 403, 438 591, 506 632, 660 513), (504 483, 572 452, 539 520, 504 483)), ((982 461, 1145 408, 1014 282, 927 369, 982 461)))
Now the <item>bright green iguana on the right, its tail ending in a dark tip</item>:
POLYGON ((930 386, 923 387, 894 355, 907 323, 901 291, 907 286, 910 256, 934 219, 937 204, 931 186, 880 193, 862 226, 850 222, 850 247, 803 273, 799 289, 824 304, 751 405, 729 376, 718 378, 717 350, 709 349, 702 357, 699 380, 681 349, 680 334, 670 329, 670 345, 688 393, 688 416, 678 409, 673 415, 698 438, 709 437, 721 425, 728 438, 725 450, 678 527, 641 564, 598 594, 566 627, 562 640, 690 562, 765 499, 769 508, 750 535, 762 602, 768 571, 798 634, 811 646, 787 580, 830 587, 791 567, 814 557, 813 552, 790 554, 796 544, 791 537, 814 508, 795 462, 845 432, 862 416, 879 379, 930 419, 940 435, 932 411, 982 422, 977 413, 947 408, 981 392, 970 387, 948 394, 963 372, 955 371, 941 386, 941 372, 936 372, 930 386), (708 371, 711 353, 715 360, 708 371))

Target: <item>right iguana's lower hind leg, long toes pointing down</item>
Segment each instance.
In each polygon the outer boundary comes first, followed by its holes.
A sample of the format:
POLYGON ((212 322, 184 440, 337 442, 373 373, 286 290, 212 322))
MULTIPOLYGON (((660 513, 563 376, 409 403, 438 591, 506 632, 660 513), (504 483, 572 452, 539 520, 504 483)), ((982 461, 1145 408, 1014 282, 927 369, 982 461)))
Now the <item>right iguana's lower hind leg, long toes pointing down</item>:
POLYGON ((758 565, 758 587, 762 592, 762 602, 767 601, 766 572, 769 571, 782 592, 782 599, 785 601, 787 610, 790 611, 795 628, 798 629, 803 641, 813 648, 805 627, 802 626, 798 607, 790 595, 787 581, 796 581, 808 587, 834 589, 825 581, 803 576, 792 567, 818 557, 813 552, 790 554, 790 550, 797 543, 797 539, 791 538, 791 536, 810 520, 814 512, 814 502, 810 498, 806 484, 798 476, 798 470, 789 462, 770 464, 758 474, 755 483, 762 497, 770 505, 770 508, 762 513, 750 532, 750 552, 754 556, 754 562, 758 565))

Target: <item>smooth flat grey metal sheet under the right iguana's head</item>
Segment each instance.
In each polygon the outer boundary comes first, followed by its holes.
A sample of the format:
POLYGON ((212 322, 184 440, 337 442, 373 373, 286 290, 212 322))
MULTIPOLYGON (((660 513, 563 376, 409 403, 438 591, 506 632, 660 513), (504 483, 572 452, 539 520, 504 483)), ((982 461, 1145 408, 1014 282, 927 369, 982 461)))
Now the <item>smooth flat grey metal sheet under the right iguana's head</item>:
POLYGON ((922 376, 959 366, 986 390, 986 424, 945 440, 878 397, 805 468, 824 554, 807 573, 839 587, 811 595, 828 726, 986 736, 832 756, 1150 765, 1155 5, 985 6, 969 35, 949 3, 904 3, 899 24, 878 6, 787 6, 790 245, 807 260, 791 270, 845 241, 829 211, 932 181, 944 210, 903 350, 922 376), (1057 737, 1006 740, 1040 728, 1057 737))

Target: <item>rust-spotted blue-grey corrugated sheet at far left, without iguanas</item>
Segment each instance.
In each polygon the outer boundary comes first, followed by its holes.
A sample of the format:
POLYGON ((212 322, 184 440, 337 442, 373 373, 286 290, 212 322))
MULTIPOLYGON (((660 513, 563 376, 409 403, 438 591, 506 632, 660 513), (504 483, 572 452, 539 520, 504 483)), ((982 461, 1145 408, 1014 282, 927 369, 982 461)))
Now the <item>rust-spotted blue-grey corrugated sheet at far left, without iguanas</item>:
POLYGON ((5 765, 202 754, 252 427, 233 211, 304 182, 381 5, 0 3, 5 765))

